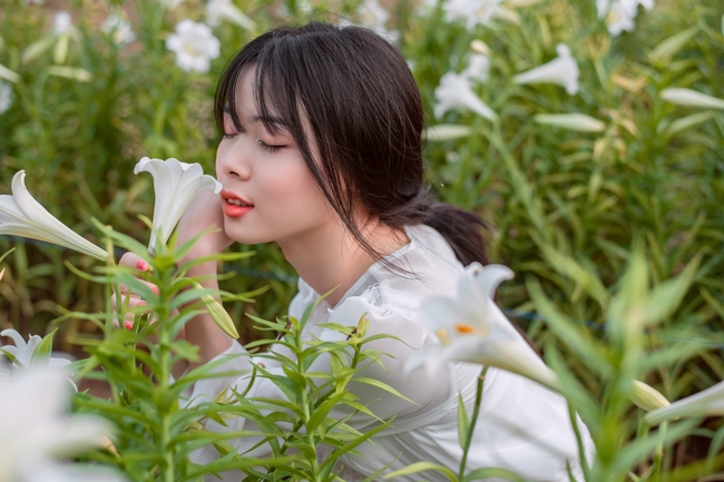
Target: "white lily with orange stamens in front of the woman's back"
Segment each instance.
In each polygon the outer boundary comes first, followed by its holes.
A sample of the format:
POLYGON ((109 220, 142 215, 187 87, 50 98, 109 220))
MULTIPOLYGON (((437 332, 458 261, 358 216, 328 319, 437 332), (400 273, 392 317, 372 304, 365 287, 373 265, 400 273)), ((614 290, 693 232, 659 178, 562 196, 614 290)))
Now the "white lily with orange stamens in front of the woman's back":
POLYGON ((556 374, 492 301, 500 282, 511 278, 506 266, 473 263, 460 278, 457 298, 425 299, 420 317, 441 344, 425 346, 409 357, 405 372, 421 366, 434 372, 447 362, 461 361, 495 366, 557 388, 556 374))

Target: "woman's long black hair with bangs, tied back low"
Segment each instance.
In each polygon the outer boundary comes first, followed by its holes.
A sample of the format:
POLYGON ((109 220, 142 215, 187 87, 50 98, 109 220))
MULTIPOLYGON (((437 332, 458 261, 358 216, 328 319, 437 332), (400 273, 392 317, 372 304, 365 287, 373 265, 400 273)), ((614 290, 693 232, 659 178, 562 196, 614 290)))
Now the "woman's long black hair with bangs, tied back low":
POLYGON ((250 68, 265 128, 276 132, 280 126, 270 119, 281 118, 327 201, 373 258, 383 256, 362 235, 359 207, 395 229, 427 224, 442 234, 463 265, 487 264, 486 223, 436 203, 425 187, 422 101, 392 45, 360 27, 311 22, 268 31, 239 50, 222 76, 215 102, 219 129, 226 114, 242 130, 236 90, 250 68))

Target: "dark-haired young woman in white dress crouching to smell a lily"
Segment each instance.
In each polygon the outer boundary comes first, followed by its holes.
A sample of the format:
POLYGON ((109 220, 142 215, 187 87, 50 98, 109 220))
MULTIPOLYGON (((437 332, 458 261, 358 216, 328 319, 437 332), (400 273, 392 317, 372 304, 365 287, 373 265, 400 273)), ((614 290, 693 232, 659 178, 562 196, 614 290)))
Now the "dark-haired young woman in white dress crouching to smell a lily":
MULTIPOLYGON (((363 474, 419 461, 457 468, 458 394, 470 411, 480 366, 453 363, 434 376, 422 371, 404 375, 402 366, 422 346, 439 343, 418 317, 420 303, 453 296, 463 267, 486 263, 483 224, 434 203, 428 193, 423 110, 402 56, 356 27, 310 23, 267 32, 227 67, 217 89, 216 119, 224 132, 216 155, 224 189, 221 196, 202 196, 188 209, 180 240, 211 226, 223 230, 203 237, 189 256, 216 254, 233 242, 278 243, 300 275, 288 311, 297 318, 321 293, 336 287, 312 313, 305 336, 332 340, 339 335, 321 324, 356 325, 366 313, 370 335, 388 333, 404 343, 374 342, 374 348, 392 357, 383 358, 387 370, 373 364, 363 376, 414 401, 352 382, 361 403, 382 419, 395 419, 374 444, 360 447, 364 456, 344 462, 363 474)), ((133 255, 121 260, 137 262, 133 255)), ((192 275, 215 270, 212 263, 192 275)), ((199 346, 202 363, 244 353, 206 316, 190 321, 185 336, 199 346)), ((319 363, 315 370, 329 370, 319 363)), ((222 370, 232 368, 250 370, 248 357, 233 357, 222 370)), ((246 377, 199 382, 192 397, 213 397, 229 385, 243 392, 246 383, 246 377)), ((247 396, 283 395, 267 380, 256 380, 247 396)), ((568 481, 568 461, 580 473, 566 402, 541 385, 490 368, 479 420, 470 470, 500 466, 529 480, 568 481)), ((350 423, 364 431, 375 420, 355 414, 350 423)), ((254 430, 250 425, 236 419, 216 430, 254 430)), ((254 442, 237 441, 239 452, 254 442)), ((251 455, 263 453, 268 447, 251 455)), ((202 459, 214 456, 209 451, 202 459)), ((443 480, 431 472, 424 478, 443 480)))

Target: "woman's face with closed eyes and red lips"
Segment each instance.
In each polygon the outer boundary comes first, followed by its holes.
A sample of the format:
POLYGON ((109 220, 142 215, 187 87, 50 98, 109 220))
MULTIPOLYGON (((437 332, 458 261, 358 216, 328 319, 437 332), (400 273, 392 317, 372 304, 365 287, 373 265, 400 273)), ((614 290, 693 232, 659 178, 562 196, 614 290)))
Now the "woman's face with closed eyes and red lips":
MULTIPOLYGON (((231 117, 216 150, 216 176, 224 186, 224 230, 246 244, 313 239, 334 224, 333 209, 306 167, 294 138, 280 125, 268 132, 260 119, 253 70, 241 78, 236 109, 244 132, 231 117)), ((310 147, 316 153, 314 139, 310 147)))

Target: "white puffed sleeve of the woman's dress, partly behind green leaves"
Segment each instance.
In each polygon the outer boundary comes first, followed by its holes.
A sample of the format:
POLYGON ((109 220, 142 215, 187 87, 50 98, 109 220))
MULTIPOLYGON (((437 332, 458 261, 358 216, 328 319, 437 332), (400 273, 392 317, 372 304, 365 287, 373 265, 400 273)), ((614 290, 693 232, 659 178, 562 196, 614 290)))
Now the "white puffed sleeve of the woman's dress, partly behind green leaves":
MULTIPOLYGON (((451 371, 440 370, 434 377, 427 371, 417 371, 411 375, 403 374, 403 365, 408 356, 411 356, 423 345, 429 343, 439 343, 431 336, 417 318, 414 314, 401 311, 387 311, 379 306, 370 304, 362 297, 350 297, 345 299, 329 318, 329 323, 336 323, 345 326, 356 326, 358 322, 365 315, 370 321, 370 328, 366 337, 374 335, 390 335, 372 341, 363 345, 363 348, 375 350, 382 355, 380 361, 384 367, 373 361, 365 361, 356 375, 351 380, 348 390, 359 397, 358 402, 366 405, 368 409, 382 420, 395 417, 392 427, 385 429, 384 433, 394 433, 409 430, 420 421, 428 420, 432 412, 444 412, 446 402, 450 401, 451 390, 451 371), (358 380, 373 380, 390 386, 403 397, 390 393, 380 387, 373 386, 358 380), (405 400, 408 399, 408 400, 405 400), (411 425, 412 424, 412 425, 411 425)), ((342 341, 344 335, 331 329, 324 328, 319 337, 323 341, 342 341)), ((287 354, 288 355, 288 354, 287 354)), ((251 371, 253 368, 252 360, 248 353, 236 342, 224 353, 215 357, 209 363, 215 363, 226 358, 221 365, 216 366, 213 372, 236 372, 234 376, 221 378, 207 378, 196 382, 193 387, 189 400, 192 403, 202 403, 212 401, 218 393, 234 388, 237 393, 246 391, 251 371), (238 375, 244 371, 243 375, 238 375)), ((274 361, 267 358, 256 360, 264 363, 265 370, 272 375, 284 375, 282 367, 274 361)), ((323 354, 309 368, 309 372, 330 372, 329 355, 323 354)), ((231 393, 229 393, 231 394, 231 393)), ((246 399, 274 399, 287 400, 284 393, 268 378, 256 376, 252 387, 246 392, 246 399)), ((352 409, 345 405, 337 405, 330 416, 342 419, 351 413, 352 409)), ((214 432, 223 431, 257 431, 258 427, 251 421, 243 417, 225 420, 227 426, 209 421, 206 429, 214 432)), ((355 413, 348 423, 356 430, 370 429, 378 420, 355 413)), ((261 436, 247 436, 235 439, 229 443, 236 447, 238 453, 247 456, 264 456, 271 453, 267 444, 263 444, 252 452, 248 452, 256 443, 262 440, 261 436)), ((205 463, 214 460, 218 455, 212 447, 204 449, 205 454, 197 454, 195 462, 205 463), (203 458, 200 458, 203 455, 203 458)))

